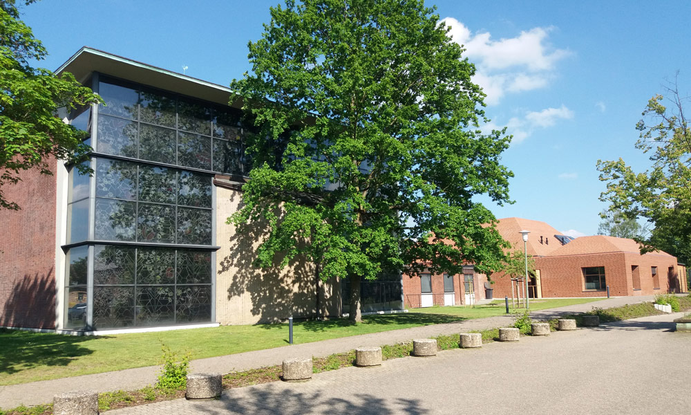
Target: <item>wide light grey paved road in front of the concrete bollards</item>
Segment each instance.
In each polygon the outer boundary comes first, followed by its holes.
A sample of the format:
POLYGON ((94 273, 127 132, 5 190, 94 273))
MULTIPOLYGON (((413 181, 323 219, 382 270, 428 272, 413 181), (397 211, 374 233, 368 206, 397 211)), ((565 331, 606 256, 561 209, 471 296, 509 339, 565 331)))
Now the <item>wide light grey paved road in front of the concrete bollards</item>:
POLYGON ((124 414, 690 414, 680 313, 400 358, 108 412, 124 414))

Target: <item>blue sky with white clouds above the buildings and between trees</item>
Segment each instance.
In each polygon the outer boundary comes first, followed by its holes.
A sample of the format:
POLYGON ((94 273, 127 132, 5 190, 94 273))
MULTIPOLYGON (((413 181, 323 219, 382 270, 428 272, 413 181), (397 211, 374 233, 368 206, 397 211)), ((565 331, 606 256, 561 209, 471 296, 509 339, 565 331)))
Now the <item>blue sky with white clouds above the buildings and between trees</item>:
MULTIPOLYGON (((249 69, 247 42, 269 20, 264 1, 44 0, 23 19, 55 70, 82 46, 227 85, 249 69)), ((679 71, 691 90, 691 2, 427 1, 477 66, 491 127, 509 127, 502 158, 515 173, 513 205, 498 217, 595 234, 605 205, 598 158, 638 170, 634 129, 647 100, 679 71)))

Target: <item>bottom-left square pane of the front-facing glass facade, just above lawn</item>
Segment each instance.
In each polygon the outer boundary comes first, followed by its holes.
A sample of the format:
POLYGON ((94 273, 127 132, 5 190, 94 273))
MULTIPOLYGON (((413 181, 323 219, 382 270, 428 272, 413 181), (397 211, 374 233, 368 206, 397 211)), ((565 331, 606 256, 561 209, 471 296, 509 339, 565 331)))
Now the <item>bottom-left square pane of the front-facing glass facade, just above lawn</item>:
POLYGON ((96 329, 115 329, 134 325, 133 286, 95 286, 93 325, 96 329))

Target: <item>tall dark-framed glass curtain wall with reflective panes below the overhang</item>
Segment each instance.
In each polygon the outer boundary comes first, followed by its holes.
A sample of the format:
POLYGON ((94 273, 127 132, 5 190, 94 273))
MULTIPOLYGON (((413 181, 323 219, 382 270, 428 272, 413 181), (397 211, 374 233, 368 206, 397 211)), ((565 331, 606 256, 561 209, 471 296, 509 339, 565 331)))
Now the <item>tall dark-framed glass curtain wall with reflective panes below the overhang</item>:
POLYGON ((249 172, 240 112, 106 77, 97 89, 96 116, 71 120, 95 148, 93 176, 69 174, 65 326, 211 322, 211 180, 249 172))

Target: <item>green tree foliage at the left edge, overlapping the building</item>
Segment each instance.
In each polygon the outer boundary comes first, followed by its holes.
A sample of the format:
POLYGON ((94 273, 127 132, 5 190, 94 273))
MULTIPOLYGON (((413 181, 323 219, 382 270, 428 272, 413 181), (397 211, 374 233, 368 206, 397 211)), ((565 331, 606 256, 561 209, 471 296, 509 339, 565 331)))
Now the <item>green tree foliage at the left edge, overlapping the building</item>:
POLYGON ((21 180, 22 171, 37 168, 50 174, 48 158, 77 162, 91 151, 82 143, 84 133, 57 113, 99 98, 69 73, 58 77, 32 68, 30 61, 44 57, 46 49, 19 19, 15 0, 0 0, 0 209, 19 208, 3 192, 21 180))

